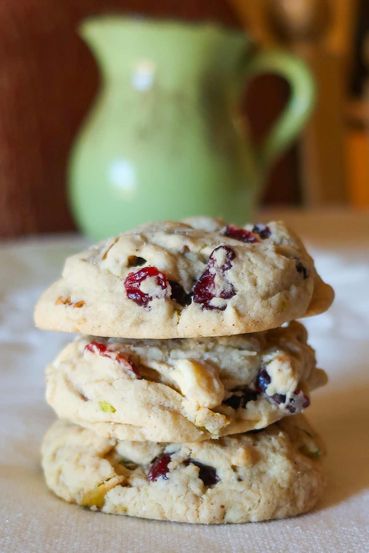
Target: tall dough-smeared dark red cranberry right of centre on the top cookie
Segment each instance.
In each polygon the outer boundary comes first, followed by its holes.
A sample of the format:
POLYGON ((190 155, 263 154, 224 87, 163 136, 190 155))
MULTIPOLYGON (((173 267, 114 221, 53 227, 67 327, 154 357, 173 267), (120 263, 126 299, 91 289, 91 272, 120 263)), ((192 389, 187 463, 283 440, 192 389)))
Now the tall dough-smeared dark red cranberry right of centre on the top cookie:
POLYGON ((218 246, 211 252, 207 262, 207 268, 200 276, 194 288, 194 302, 196 304, 202 304, 203 309, 217 309, 219 311, 224 311, 226 309, 226 305, 217 307, 211 305, 210 302, 214 298, 228 300, 236 294, 232 284, 226 280, 224 275, 224 273, 232 267, 232 260, 235 258, 236 254, 230 246, 218 246), (225 251, 225 262, 221 265, 217 263, 214 255, 214 253, 220 249, 224 249, 225 251), (223 288, 221 290, 216 290, 215 288, 216 275, 222 280, 223 288))

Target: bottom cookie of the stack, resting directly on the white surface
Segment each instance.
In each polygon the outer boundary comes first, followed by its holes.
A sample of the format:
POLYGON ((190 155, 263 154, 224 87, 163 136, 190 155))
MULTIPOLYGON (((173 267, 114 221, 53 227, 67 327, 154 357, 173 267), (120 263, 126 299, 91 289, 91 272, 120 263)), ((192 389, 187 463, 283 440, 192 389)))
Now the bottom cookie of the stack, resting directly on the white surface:
POLYGON ((42 446, 46 483, 104 513, 241 523, 311 509, 324 486, 319 438, 303 415, 261 431, 187 444, 107 439, 56 421, 42 446))

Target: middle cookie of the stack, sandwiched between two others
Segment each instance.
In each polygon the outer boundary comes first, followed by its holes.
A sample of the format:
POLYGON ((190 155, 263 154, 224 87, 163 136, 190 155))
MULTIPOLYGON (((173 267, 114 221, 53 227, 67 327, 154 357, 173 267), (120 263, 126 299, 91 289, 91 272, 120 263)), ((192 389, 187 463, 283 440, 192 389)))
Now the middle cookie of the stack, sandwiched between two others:
POLYGON ((325 384, 305 328, 132 340, 81 336, 46 368, 58 416, 119 440, 198 441, 259 429, 325 384))

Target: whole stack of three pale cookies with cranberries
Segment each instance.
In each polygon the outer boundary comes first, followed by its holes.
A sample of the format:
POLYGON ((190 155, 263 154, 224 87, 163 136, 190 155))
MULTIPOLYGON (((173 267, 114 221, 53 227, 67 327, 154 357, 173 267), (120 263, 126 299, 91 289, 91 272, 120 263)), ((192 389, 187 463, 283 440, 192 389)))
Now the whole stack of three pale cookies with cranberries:
POLYGON ((41 328, 78 332, 46 369, 60 420, 48 486, 105 513, 287 517, 323 489, 301 412, 326 382, 296 318, 333 299, 283 223, 148 223, 66 260, 41 328))

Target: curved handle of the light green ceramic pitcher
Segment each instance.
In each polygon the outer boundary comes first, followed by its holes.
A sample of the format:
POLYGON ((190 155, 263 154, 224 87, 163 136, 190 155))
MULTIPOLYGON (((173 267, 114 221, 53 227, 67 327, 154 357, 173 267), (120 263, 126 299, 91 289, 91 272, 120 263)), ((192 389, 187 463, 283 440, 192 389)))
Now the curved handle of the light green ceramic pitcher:
POLYGON ((290 85, 290 97, 271 130, 256 150, 258 163, 267 168, 287 149, 304 126, 315 105, 316 87, 308 66, 292 54, 278 50, 256 53, 246 64, 246 86, 257 75, 277 74, 290 85))

